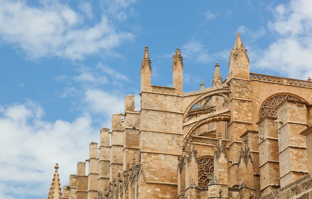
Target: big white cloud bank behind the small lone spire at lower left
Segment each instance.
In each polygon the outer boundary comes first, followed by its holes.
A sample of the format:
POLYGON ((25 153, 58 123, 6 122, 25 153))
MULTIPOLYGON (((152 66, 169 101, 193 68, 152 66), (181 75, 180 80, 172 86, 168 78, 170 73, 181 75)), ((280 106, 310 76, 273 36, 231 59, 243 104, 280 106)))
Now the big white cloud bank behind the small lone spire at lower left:
POLYGON ((0 197, 45 196, 53 177, 53 165, 60 164, 61 184, 75 173, 75 162, 88 158, 88 145, 97 140, 88 114, 72 122, 41 119, 43 110, 28 100, 3 106, 0 112, 0 197))

